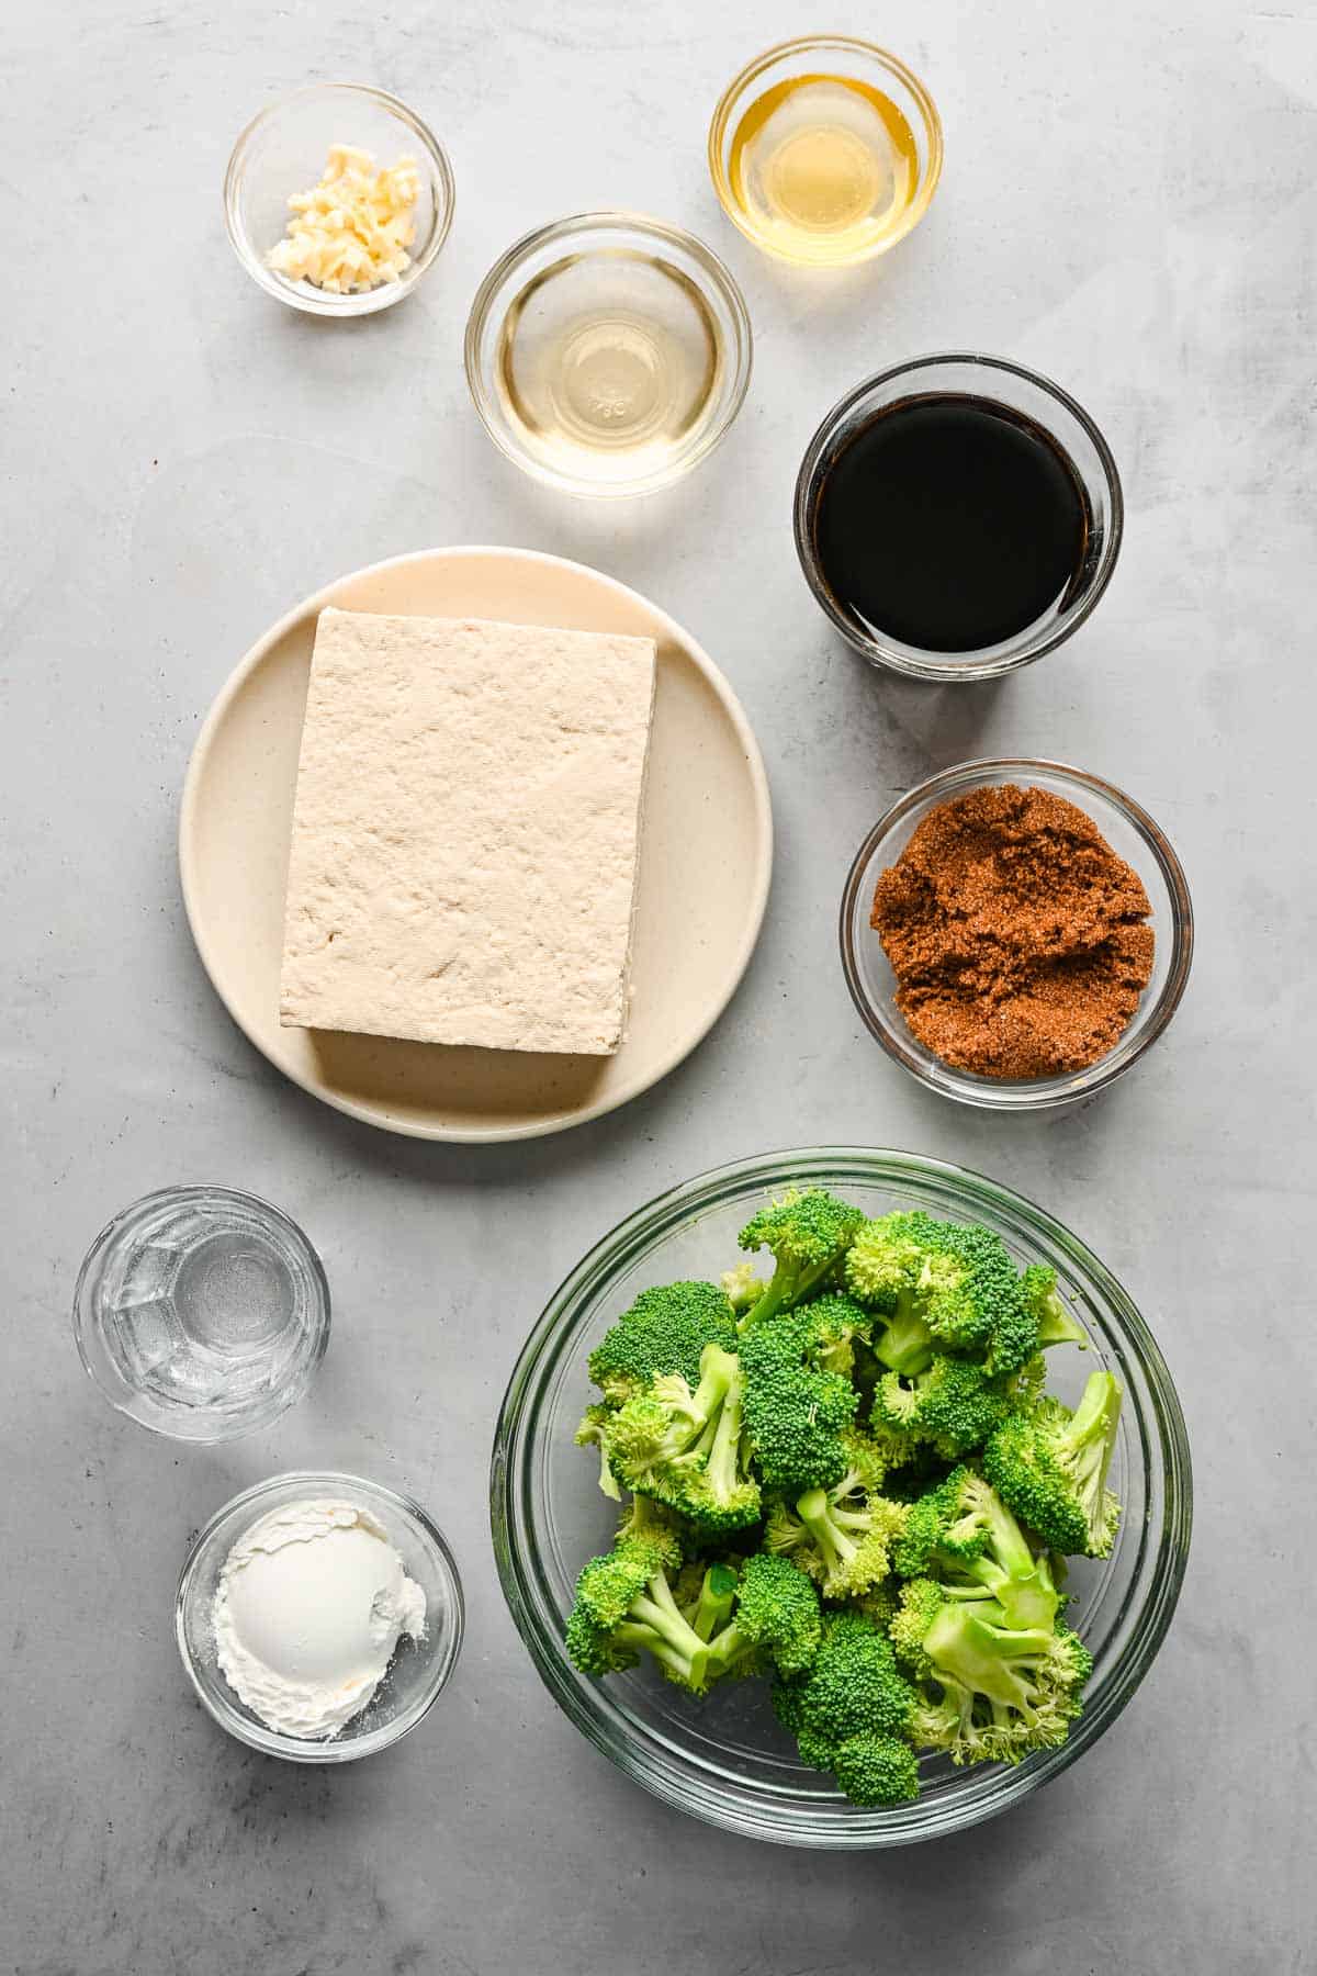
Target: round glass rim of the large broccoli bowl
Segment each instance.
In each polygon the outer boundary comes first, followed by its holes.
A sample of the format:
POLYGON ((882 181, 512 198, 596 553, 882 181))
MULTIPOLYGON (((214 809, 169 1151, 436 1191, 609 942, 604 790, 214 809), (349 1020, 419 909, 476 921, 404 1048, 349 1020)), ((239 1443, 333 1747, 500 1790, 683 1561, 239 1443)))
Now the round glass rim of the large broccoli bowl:
MULTIPOLYGON (((665 1188, 654 1199, 624 1215, 563 1278, 527 1336, 500 1405, 490 1456, 490 1527, 504 1601, 535 1672, 567 1719, 628 1778, 642 1784, 661 1802, 705 1824, 733 1830, 746 1838, 833 1852, 867 1852, 946 1836, 997 1816, 1007 1806, 1019 1802, 1019 1798, 1066 1770, 1110 1729, 1151 1668, 1175 1614, 1193 1533, 1193 1464, 1185 1413, 1151 1326, 1123 1284, 1062 1221, 1056 1221, 1046 1209, 1013 1188, 1005 1188, 985 1174, 950 1160, 934 1160, 926 1154, 883 1146, 796 1146, 733 1160, 695 1174, 673 1188, 665 1188), (971 1798, 964 1798, 960 1804, 944 1806, 938 1814, 932 1814, 924 1828, 894 1826, 875 1830, 873 1826, 857 1826, 849 1838, 839 1838, 835 1832, 812 1832, 806 1822, 786 1832, 760 1818, 754 1810, 731 1812, 715 1786, 685 1776, 673 1778, 650 1751, 634 1749, 628 1737, 616 1739, 606 1717, 594 1711, 577 1684, 567 1676, 563 1640, 557 1630, 551 1630, 543 1622, 543 1614, 537 1608, 535 1587, 539 1585, 547 1593, 543 1567, 535 1557, 527 1559, 523 1555, 517 1535, 517 1520, 527 1494, 525 1464, 529 1458, 527 1450, 533 1446, 533 1413, 563 1354, 577 1344, 575 1332, 584 1300, 606 1284, 620 1267, 654 1247, 659 1237, 669 1235, 677 1225, 699 1217, 699 1213, 721 1201, 735 1199, 750 1188, 774 1188, 792 1180, 817 1180, 819 1174, 827 1174, 829 1184, 837 1188, 845 1188, 847 1182, 898 1186, 900 1176, 908 1174, 942 1180, 966 1197, 966 1205, 981 1199, 987 1207, 1005 1213, 1017 1229, 1035 1231, 1060 1251, 1086 1284, 1100 1290, 1108 1312, 1120 1328, 1122 1342, 1137 1359, 1139 1371, 1147 1381, 1155 1411, 1155 1446, 1165 1490, 1163 1518, 1155 1533, 1151 1577, 1137 1608, 1135 1630, 1116 1658, 1108 1691, 1102 1695, 1100 1705, 1090 1705, 1084 1711, 1066 1743, 1060 1749, 1037 1753, 1029 1765, 1007 1772, 1007 1780, 993 1804, 983 1806, 971 1798), (527 1415, 531 1421, 529 1429, 527 1415)), ((545 1597, 547 1605, 549 1599, 545 1597)))

